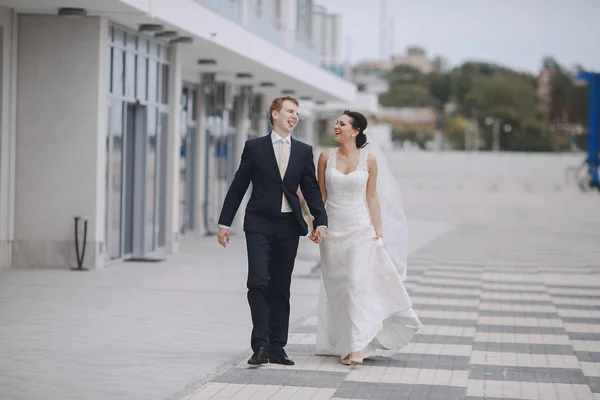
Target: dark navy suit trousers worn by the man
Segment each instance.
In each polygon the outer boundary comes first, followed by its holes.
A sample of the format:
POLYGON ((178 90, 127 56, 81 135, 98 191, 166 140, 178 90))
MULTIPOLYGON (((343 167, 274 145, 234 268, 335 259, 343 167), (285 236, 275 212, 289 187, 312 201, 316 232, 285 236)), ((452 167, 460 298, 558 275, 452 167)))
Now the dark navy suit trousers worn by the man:
POLYGON ((282 213, 275 234, 246 233, 248 303, 252 314, 250 344, 268 349, 287 344, 290 284, 300 234, 292 213, 282 213))

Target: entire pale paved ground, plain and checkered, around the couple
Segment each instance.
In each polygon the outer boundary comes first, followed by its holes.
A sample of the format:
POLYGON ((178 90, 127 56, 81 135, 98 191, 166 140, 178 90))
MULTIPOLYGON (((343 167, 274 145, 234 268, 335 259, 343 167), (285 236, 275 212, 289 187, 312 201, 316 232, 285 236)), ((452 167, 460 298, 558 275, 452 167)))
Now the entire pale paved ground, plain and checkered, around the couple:
POLYGON ((600 399, 600 198, 452 157, 399 161, 425 327, 396 357, 314 356, 318 280, 299 263, 297 364, 247 368, 243 238, 188 238, 166 263, 0 271, 0 399, 600 399))

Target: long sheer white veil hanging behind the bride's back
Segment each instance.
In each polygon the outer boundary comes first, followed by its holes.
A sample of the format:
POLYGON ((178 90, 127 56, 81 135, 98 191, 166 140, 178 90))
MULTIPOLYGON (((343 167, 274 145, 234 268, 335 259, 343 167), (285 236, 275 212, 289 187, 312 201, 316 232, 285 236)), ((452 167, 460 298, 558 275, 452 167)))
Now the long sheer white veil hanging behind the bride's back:
POLYGON ((364 150, 373 154, 377 160, 377 196, 381 209, 383 246, 404 281, 408 257, 408 223, 404 214, 402 191, 381 146, 369 138, 364 150))

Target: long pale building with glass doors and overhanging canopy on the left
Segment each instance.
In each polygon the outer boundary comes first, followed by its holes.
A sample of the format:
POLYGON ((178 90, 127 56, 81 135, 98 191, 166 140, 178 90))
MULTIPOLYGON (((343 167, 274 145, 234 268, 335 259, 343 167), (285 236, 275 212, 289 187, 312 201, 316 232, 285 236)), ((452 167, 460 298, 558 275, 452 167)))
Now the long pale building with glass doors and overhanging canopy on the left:
MULTIPOLYGON (((355 96, 321 66, 312 1, 49 3, 0 0, 1 268, 177 252, 216 231, 272 97, 355 96)), ((308 114, 296 136, 311 142, 308 114)))

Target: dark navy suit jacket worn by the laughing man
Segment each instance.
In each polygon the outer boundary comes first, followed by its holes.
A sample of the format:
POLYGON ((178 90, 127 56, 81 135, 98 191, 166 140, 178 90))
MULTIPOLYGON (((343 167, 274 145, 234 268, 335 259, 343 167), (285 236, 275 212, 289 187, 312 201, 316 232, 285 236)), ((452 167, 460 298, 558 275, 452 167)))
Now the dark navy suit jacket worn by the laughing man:
POLYGON ((281 214, 283 193, 298 222, 299 234, 307 235, 308 227, 296 194, 298 185, 314 217, 313 227, 327 225, 327 214, 315 177, 313 150, 310 145, 292 138, 290 159, 282 180, 271 135, 248 140, 242 152, 240 166, 225 196, 219 225, 231 226, 250 182, 252 195, 246 207, 244 231, 274 234, 275 223, 281 214))

